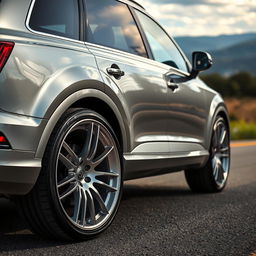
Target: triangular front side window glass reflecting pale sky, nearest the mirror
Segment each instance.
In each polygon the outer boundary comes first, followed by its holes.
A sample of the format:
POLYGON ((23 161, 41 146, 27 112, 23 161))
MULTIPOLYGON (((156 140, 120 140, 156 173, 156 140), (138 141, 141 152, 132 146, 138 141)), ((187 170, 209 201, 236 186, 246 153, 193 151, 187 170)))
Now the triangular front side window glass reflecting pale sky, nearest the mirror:
POLYGON ((165 31, 151 18, 135 10, 156 61, 188 71, 185 60, 165 31))

